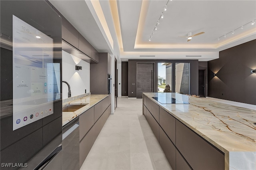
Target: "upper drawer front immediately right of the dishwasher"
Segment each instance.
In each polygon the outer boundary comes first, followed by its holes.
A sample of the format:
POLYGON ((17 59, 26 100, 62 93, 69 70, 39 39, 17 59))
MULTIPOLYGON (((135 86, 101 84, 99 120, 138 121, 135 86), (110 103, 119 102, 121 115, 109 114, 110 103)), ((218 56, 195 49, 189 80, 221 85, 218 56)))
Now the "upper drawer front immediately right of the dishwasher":
POLYGON ((86 135, 90 128, 94 124, 94 107, 90 108, 86 112, 79 116, 79 133, 80 140, 86 135))

